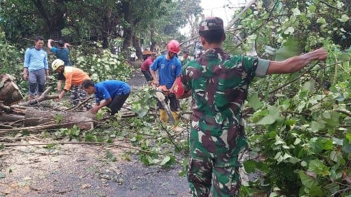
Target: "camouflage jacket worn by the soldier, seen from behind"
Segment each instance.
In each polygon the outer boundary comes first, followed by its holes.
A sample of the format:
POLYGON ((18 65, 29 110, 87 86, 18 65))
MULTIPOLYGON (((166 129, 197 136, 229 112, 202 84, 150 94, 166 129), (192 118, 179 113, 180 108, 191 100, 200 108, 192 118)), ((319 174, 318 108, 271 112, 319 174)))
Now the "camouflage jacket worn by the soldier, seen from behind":
POLYGON ((186 91, 192 91, 193 97, 191 131, 204 133, 202 139, 198 137, 204 147, 219 146, 223 149, 219 152, 237 155, 246 146, 241 110, 257 64, 257 57, 208 49, 183 66, 182 85, 186 91), (210 142, 213 145, 208 145, 210 142))

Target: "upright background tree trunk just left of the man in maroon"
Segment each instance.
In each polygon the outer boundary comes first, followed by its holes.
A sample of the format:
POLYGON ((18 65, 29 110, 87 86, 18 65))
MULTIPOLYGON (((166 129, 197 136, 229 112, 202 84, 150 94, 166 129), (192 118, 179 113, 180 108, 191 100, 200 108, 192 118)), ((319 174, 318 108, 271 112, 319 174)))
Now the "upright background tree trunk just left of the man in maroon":
POLYGON ((130 49, 132 47, 132 39, 133 39, 133 21, 132 21, 132 4, 130 1, 123 1, 122 3, 123 13, 125 21, 128 25, 124 25, 123 29, 123 51, 125 51, 125 58, 130 60, 130 49))

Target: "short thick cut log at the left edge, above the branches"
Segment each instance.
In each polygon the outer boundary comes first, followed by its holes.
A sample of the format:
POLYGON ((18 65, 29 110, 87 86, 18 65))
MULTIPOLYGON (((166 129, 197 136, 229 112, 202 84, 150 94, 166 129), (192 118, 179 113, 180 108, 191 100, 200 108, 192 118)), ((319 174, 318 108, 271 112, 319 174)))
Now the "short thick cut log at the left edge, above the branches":
POLYGON ((13 105, 23 100, 19 87, 8 74, 0 74, 0 101, 3 105, 13 105))

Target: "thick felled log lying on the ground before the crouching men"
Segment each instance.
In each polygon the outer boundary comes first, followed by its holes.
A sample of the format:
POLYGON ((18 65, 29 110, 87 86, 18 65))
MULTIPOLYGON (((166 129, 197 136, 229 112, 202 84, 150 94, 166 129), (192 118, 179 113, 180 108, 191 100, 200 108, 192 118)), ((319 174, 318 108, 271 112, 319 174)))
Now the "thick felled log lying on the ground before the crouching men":
MULTIPOLYGON (((77 125, 80 129, 93 129, 93 119, 86 117, 85 112, 77 111, 43 111, 34 107, 25 110, 25 125, 36 126, 39 124, 66 123, 64 128, 71 128, 77 125), (38 118, 38 119, 36 119, 38 118), (79 122, 72 123, 70 122, 79 122)), ((56 127, 60 128, 60 127, 56 127)))

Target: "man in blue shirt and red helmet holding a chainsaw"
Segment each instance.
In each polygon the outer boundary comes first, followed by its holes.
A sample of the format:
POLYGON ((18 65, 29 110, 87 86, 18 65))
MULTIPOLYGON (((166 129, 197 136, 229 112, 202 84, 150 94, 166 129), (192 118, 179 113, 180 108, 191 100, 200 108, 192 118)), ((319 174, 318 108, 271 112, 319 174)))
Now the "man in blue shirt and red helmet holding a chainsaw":
MULTIPOLYGON (((169 41, 167 44, 167 54, 157 57, 152 66, 150 66, 150 73, 154 78, 152 83, 154 86, 158 87, 159 90, 165 92, 165 102, 168 103, 169 101, 169 106, 175 122, 179 120, 179 101, 175 98, 173 86, 175 84, 175 79, 178 79, 182 72, 182 64, 176 57, 179 51, 179 42, 177 40, 169 41), (158 77, 156 77, 156 70, 158 70, 158 77)), ((158 101, 157 106, 158 109, 160 109, 161 121, 168 122, 169 117, 160 101, 158 101)))

